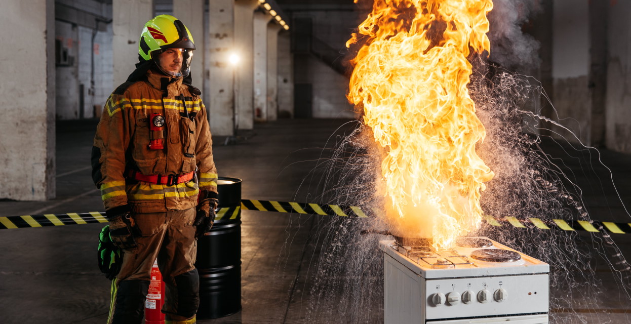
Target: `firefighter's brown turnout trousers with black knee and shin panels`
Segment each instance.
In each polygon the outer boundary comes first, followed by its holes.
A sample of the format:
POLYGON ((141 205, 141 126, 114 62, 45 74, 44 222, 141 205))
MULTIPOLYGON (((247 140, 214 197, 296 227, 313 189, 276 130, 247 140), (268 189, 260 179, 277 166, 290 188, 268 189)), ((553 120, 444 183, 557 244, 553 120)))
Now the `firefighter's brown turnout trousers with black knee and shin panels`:
POLYGON ((151 267, 158 267, 166 285, 166 323, 196 323, 199 306, 199 275, 194 208, 184 211, 137 213, 136 246, 124 250, 121 271, 112 281, 108 324, 141 324, 151 267))

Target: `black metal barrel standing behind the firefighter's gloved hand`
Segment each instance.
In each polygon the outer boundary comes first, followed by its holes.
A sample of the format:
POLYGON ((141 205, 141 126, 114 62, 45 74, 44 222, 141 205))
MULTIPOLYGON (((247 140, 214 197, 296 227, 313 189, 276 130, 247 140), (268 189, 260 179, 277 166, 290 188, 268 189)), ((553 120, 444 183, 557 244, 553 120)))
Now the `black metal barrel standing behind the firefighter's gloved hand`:
POLYGON ((199 271, 197 317, 201 320, 241 310, 241 179, 220 177, 217 190, 217 219, 199 237, 195 263, 199 271))

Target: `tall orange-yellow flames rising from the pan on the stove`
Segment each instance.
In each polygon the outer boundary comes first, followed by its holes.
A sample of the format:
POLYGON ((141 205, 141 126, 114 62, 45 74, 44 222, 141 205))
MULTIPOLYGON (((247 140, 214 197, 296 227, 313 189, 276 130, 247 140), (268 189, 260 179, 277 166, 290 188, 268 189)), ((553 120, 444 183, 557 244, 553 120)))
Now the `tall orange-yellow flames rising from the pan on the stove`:
POLYGON ((384 148, 391 231, 433 238, 439 249, 478 228, 493 178, 475 152, 485 128, 467 88, 470 51, 490 49, 492 8, 491 0, 374 0, 346 43, 363 44, 348 100, 384 148))

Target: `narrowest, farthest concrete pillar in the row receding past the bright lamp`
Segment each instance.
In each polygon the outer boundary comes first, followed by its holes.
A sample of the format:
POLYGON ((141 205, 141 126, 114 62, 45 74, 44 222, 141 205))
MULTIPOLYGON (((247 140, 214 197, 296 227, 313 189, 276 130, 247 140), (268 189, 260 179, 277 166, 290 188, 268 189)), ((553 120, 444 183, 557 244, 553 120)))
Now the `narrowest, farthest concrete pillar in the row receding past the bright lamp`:
POLYGON ((278 119, 278 32, 281 29, 274 21, 268 25, 268 120, 278 119))

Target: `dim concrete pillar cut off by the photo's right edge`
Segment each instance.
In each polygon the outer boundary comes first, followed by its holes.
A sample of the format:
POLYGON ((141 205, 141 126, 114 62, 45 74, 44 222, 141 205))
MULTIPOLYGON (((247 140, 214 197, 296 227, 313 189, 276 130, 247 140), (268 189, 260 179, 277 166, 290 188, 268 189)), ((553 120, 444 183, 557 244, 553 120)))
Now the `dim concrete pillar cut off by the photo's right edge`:
POLYGON ((631 153, 631 2, 609 2, 607 26, 607 148, 631 153))

